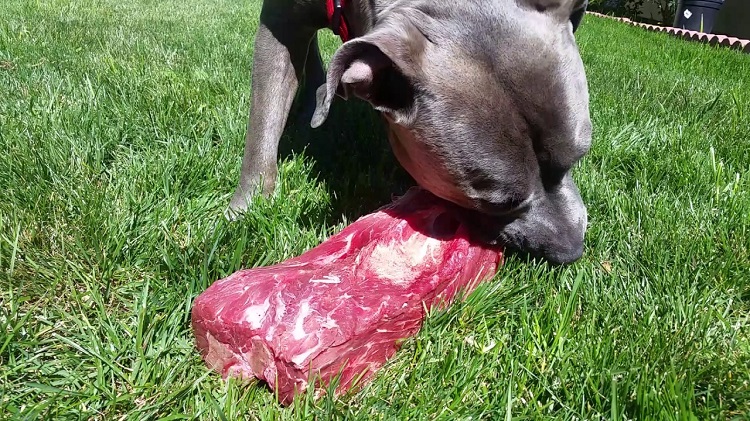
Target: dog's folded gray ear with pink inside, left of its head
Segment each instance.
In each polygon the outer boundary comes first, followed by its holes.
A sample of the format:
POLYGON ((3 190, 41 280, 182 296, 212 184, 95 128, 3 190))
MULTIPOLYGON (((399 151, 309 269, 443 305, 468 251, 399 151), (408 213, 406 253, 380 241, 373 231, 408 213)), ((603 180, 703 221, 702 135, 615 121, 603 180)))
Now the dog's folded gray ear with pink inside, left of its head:
POLYGON ((424 36, 407 22, 386 22, 334 54, 326 84, 318 88, 311 126, 328 117, 335 95, 356 96, 407 125, 414 113, 415 84, 424 36))

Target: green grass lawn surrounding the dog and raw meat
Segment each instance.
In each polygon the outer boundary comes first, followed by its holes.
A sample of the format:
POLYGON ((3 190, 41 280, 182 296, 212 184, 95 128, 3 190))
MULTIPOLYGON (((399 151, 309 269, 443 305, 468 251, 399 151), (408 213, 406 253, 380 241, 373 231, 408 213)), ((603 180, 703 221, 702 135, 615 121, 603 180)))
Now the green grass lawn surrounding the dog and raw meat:
POLYGON ((282 408, 208 372, 197 294, 409 185, 367 107, 337 103, 290 125, 278 194, 223 219, 259 7, 0 4, 0 418, 747 419, 750 56, 594 17, 581 261, 511 258, 340 399, 282 408))

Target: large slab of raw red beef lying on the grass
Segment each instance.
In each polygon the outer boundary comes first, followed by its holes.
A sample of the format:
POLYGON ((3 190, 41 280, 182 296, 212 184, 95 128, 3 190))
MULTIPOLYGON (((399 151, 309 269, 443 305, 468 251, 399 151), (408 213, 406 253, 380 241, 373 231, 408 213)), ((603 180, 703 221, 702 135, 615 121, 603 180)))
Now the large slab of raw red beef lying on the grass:
POLYGON ((197 346, 225 378, 262 379, 283 403, 312 379, 340 375, 342 392, 501 259, 468 239, 453 205, 415 187, 299 257, 216 281, 193 306, 197 346))

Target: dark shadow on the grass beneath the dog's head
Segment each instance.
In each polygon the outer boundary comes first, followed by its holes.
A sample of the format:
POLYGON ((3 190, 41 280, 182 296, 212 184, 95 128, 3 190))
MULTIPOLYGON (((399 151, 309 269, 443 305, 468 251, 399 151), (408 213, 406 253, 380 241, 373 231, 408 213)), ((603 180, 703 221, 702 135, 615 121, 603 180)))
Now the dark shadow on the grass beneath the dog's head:
MULTIPOLYGON (((296 100, 279 144, 279 158, 304 155, 313 176, 328 188, 328 223, 349 221, 371 213, 416 183, 391 151, 385 123, 361 100, 341 98, 331 105, 326 122, 310 127, 310 107, 296 100)), ((321 221, 323 222, 323 221, 321 221)))

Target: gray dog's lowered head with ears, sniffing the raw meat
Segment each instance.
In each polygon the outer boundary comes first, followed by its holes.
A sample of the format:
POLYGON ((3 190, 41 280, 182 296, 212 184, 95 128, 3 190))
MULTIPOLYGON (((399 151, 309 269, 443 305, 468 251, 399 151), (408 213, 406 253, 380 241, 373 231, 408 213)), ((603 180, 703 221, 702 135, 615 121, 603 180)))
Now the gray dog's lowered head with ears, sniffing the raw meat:
POLYGON ((585 0, 396 1, 336 52, 312 126, 337 93, 368 101, 404 168, 476 211, 484 239, 577 260, 587 215, 570 170, 591 142, 573 37, 584 10, 585 0))

